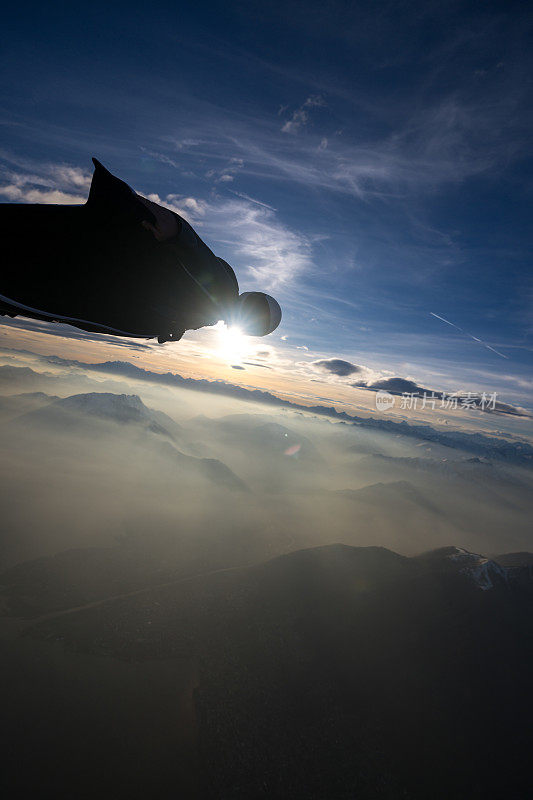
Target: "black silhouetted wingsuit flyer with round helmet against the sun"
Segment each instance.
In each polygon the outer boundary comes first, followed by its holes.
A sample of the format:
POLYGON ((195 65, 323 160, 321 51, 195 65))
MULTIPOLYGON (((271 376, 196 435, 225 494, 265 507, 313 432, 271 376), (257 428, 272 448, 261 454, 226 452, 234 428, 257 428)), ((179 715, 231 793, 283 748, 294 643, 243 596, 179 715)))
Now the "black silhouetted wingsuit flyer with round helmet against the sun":
POLYGON ((273 297, 239 294, 186 220, 93 162, 84 205, 0 204, 1 315, 161 343, 219 320, 252 336, 278 327, 273 297))

